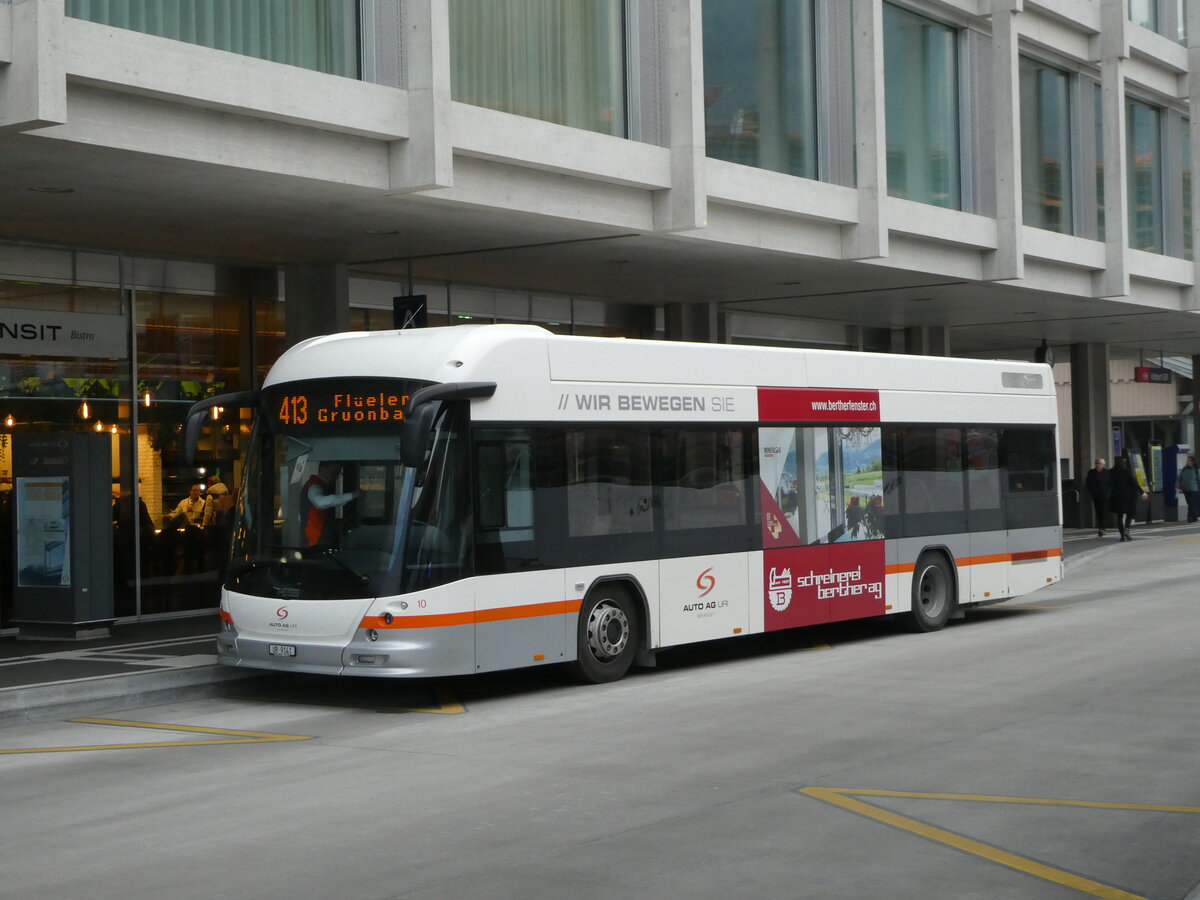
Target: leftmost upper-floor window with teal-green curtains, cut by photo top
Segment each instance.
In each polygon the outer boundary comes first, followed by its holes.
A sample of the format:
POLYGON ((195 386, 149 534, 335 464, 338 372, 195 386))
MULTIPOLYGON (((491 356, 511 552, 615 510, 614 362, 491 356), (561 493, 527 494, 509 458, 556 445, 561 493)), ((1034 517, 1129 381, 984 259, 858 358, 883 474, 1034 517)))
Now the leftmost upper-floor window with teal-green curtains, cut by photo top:
POLYGON ((66 13, 244 56, 360 77, 356 0, 66 0, 66 13))

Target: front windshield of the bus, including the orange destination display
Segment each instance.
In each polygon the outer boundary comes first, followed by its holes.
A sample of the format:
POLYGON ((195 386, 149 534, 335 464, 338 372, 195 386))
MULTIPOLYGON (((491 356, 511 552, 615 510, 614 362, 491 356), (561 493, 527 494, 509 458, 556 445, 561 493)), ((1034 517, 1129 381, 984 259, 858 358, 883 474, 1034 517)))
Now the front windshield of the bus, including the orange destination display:
POLYGON ((286 600, 377 598, 470 574, 464 404, 438 409, 421 466, 401 461, 404 406, 421 386, 322 379, 263 391, 230 589, 286 600))

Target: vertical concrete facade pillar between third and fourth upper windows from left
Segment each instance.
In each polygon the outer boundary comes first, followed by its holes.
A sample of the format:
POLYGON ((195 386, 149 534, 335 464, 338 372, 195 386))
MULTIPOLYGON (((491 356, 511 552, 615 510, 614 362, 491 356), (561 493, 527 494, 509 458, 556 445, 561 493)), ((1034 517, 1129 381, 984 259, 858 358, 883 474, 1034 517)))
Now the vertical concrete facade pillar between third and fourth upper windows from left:
POLYGON ((842 228, 841 254, 845 259, 877 259, 888 254, 883 5, 876 0, 852 2, 858 222, 842 228))

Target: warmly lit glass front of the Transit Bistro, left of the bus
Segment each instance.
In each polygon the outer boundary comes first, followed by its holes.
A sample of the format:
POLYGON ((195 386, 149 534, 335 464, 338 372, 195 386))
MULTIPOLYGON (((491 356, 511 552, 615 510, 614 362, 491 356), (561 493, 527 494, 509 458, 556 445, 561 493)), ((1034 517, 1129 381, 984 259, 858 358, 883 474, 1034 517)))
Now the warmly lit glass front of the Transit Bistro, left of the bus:
MULTIPOLYGON (((215 608, 248 410, 215 410, 192 466, 182 457, 184 421, 197 400, 262 383, 282 349, 283 304, 142 289, 120 274, 137 264, 116 257, 28 256, 38 260, 31 268, 65 277, 0 277, 0 626, 14 624, 22 436, 109 436, 115 618, 215 608), (104 275, 68 281, 84 269, 104 275)), ((97 515, 108 521, 107 509, 97 515)))

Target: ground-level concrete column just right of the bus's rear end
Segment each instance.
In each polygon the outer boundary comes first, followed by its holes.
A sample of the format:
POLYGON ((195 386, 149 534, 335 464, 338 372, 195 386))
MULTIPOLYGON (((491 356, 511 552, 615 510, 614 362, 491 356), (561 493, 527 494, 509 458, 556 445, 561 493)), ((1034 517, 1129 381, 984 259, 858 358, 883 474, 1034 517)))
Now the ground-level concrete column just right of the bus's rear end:
MULTIPOLYGON (((1070 346, 1070 410, 1073 419, 1072 456, 1075 488, 1074 506, 1064 504, 1064 524, 1096 527, 1092 502, 1084 487, 1084 475, 1096 457, 1112 466, 1112 412, 1109 403, 1109 348, 1103 343, 1070 346), (1072 520, 1072 512, 1075 520, 1072 520)), ((1061 439, 1061 438, 1060 438, 1061 439)))

